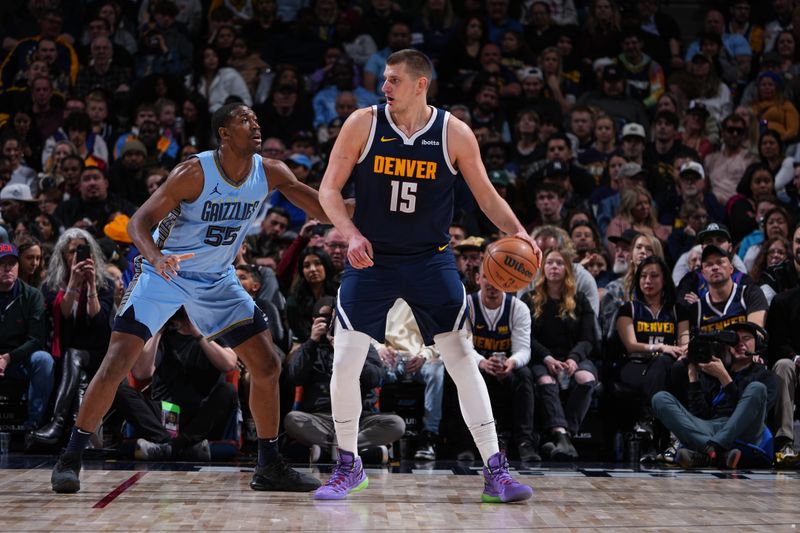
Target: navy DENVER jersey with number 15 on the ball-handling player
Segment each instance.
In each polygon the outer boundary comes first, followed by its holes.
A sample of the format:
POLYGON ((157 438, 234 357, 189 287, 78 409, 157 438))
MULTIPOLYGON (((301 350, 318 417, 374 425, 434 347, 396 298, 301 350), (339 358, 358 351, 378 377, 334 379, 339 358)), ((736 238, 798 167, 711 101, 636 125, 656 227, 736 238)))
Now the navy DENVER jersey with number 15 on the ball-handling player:
POLYGON ((450 240, 456 170, 447 153, 450 113, 431 107, 411 137, 385 104, 373 106, 372 128, 355 166, 353 221, 377 254, 440 250, 450 240))

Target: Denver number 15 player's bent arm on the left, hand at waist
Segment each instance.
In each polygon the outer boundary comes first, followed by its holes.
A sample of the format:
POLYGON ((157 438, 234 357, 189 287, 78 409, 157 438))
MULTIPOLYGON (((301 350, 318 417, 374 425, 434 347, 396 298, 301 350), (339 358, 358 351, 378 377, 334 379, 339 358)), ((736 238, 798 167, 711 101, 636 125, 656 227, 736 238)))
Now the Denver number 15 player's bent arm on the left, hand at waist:
POLYGON ((372 244, 350 220, 352 209, 345 204, 342 188, 364 150, 371 128, 372 108, 358 109, 348 117, 333 145, 328 168, 319 187, 320 204, 333 225, 347 239, 347 259, 355 268, 372 266, 372 244))

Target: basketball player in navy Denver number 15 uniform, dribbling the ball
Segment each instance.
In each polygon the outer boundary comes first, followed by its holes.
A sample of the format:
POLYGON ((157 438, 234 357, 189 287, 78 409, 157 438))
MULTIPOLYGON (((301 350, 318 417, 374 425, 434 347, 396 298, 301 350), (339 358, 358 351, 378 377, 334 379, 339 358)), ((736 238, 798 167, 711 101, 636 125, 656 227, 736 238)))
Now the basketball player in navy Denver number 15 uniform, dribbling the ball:
POLYGON ((461 172, 481 209, 506 233, 536 244, 495 192, 472 131, 427 104, 430 60, 400 50, 386 61, 386 104, 355 111, 331 152, 320 202, 348 240, 337 304, 331 400, 339 461, 317 499, 343 499, 368 484, 357 457, 359 375, 370 337, 382 342, 386 313, 397 298, 414 312, 425 344, 435 344, 459 390, 464 420, 484 462, 483 501, 525 500, 499 451, 486 384, 472 359, 463 324, 466 293, 449 249, 453 187, 461 172), (355 178, 353 220, 342 188, 355 178))

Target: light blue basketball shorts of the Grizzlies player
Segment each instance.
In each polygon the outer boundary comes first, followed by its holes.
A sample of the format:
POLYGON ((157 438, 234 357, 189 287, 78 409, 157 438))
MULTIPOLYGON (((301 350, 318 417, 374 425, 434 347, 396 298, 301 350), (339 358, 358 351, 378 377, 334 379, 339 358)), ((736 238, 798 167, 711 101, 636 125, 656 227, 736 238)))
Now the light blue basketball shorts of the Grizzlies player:
POLYGON ((234 331, 238 334, 240 331, 235 328, 248 329, 246 325, 253 329, 248 332, 252 336, 267 326, 263 313, 239 283, 233 266, 218 273, 181 270, 167 281, 149 263, 137 259, 136 275, 120 304, 114 331, 147 340, 181 306, 209 339, 227 337, 234 331))

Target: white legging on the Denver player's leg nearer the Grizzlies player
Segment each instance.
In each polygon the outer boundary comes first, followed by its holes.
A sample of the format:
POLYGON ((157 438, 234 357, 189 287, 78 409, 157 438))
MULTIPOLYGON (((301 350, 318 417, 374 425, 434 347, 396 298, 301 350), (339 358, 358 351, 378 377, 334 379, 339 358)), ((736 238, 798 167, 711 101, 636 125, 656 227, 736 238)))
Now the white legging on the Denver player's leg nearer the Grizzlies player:
POLYGON ((331 410, 339 448, 358 455, 358 419, 361 416, 361 369, 367 360, 369 336, 337 328, 333 338, 331 410))

